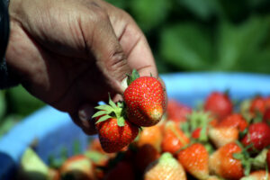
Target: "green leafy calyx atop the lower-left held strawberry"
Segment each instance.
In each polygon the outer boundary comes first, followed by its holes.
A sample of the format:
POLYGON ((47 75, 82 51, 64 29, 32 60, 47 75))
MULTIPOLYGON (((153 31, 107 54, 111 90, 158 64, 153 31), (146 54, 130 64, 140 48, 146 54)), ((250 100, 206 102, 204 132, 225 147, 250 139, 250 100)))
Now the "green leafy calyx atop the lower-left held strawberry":
POLYGON ((110 95, 109 95, 109 104, 98 105, 94 108, 99 111, 95 112, 92 118, 101 116, 95 123, 106 121, 110 118, 116 118, 118 126, 122 127, 125 125, 125 118, 123 113, 124 103, 122 102, 118 102, 117 104, 114 103, 110 95))

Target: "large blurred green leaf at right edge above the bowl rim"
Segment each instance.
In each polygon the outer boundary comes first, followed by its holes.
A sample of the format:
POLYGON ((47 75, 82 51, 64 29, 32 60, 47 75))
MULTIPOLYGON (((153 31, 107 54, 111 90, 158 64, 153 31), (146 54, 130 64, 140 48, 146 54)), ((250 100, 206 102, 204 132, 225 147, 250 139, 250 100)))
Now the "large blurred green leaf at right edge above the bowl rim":
POLYGON ((266 37, 269 31, 269 17, 251 16, 246 22, 238 25, 225 21, 220 23, 216 68, 269 72, 267 65, 270 65, 270 49, 264 45, 267 44, 266 37))

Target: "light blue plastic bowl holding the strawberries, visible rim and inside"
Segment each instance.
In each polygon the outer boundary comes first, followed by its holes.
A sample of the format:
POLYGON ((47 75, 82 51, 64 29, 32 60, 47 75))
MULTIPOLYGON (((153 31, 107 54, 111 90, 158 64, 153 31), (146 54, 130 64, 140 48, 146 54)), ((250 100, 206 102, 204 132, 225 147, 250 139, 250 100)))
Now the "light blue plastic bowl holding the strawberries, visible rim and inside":
MULTIPOLYGON (((190 106, 203 101, 212 91, 229 90, 231 98, 243 100, 256 94, 270 94, 270 76, 243 73, 177 73, 163 75, 169 98, 190 106)), ((33 141, 40 157, 48 162, 49 156, 58 157, 63 148, 71 155, 79 140, 85 149, 89 140, 65 112, 50 106, 34 112, 17 124, 0 140, 0 179, 9 179, 20 162, 25 148, 33 141)))

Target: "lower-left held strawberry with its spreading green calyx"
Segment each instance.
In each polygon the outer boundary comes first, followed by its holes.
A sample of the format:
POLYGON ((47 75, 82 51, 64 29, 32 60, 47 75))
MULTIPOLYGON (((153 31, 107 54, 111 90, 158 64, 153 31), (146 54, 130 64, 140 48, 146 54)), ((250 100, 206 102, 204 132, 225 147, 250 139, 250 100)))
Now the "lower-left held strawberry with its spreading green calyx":
POLYGON ((139 133, 139 127, 125 121, 122 104, 109 99, 109 104, 97 106, 101 111, 94 113, 95 127, 103 150, 107 153, 120 151, 130 144, 139 133))

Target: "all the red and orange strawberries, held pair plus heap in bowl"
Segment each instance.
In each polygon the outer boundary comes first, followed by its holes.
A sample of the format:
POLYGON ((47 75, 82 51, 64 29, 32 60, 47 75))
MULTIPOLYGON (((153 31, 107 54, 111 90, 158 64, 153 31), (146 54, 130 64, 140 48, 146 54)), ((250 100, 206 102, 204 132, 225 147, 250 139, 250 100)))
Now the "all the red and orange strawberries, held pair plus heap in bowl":
POLYGON ((97 107, 98 139, 47 179, 270 180, 270 96, 233 102, 212 92, 192 109, 166 105, 157 78, 135 79, 123 102, 97 107))

